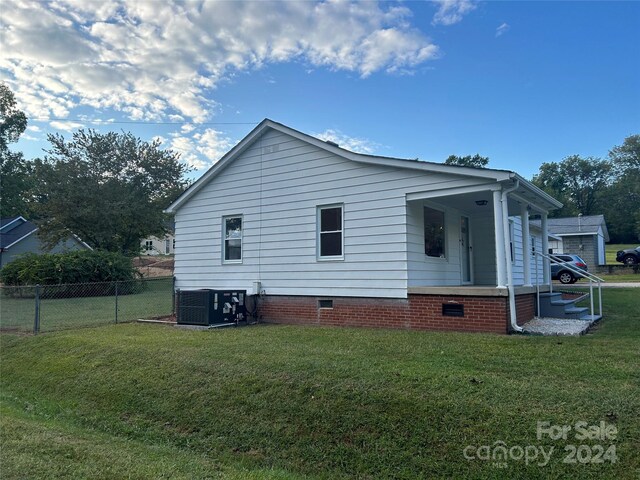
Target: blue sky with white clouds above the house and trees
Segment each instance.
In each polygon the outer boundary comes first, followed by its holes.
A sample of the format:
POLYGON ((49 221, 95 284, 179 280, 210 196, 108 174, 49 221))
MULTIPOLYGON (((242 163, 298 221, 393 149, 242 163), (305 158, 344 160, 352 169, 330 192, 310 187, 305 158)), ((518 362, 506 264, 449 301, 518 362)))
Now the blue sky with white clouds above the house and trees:
POLYGON ((376 155, 531 178, 640 133, 640 2, 1 0, 29 127, 130 131, 197 178, 262 119, 376 155))

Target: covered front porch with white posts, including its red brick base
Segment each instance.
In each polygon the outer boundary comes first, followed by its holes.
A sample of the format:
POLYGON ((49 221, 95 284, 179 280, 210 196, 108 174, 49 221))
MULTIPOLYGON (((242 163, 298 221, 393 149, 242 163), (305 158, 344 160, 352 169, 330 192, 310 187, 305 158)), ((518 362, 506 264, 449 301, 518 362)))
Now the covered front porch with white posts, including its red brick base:
POLYGON ((438 299, 443 318, 497 318, 523 331, 550 288, 549 262, 536 253, 548 251, 547 213, 558 206, 518 178, 407 194, 409 298, 438 299))

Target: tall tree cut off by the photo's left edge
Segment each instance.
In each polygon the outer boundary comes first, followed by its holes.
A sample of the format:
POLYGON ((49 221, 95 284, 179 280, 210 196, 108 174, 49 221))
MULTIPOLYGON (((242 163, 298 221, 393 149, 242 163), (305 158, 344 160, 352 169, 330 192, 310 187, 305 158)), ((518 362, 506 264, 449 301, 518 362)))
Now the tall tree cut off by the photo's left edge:
POLYGON ((33 184, 31 163, 22 152, 12 152, 27 128, 27 116, 18 109, 9 87, 0 83, 0 216, 27 215, 28 192, 33 184))

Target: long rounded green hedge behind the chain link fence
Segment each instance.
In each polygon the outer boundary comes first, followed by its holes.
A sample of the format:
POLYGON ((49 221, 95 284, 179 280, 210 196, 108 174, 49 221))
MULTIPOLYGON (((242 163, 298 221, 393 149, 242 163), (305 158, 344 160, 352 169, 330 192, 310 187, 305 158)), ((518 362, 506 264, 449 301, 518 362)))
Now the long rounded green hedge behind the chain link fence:
POLYGON ((129 257, 95 250, 27 253, 0 271, 0 281, 11 286, 132 281, 138 276, 129 257))

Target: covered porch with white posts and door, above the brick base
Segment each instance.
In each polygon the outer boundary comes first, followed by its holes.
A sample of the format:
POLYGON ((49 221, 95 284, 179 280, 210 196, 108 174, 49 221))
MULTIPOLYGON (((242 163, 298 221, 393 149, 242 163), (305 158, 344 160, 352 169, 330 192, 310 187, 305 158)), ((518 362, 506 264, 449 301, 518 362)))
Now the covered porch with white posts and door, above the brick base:
POLYGON ((548 285, 548 262, 535 253, 548 251, 547 212, 557 205, 517 181, 407 194, 409 293, 475 287, 460 291, 499 296, 548 285))

